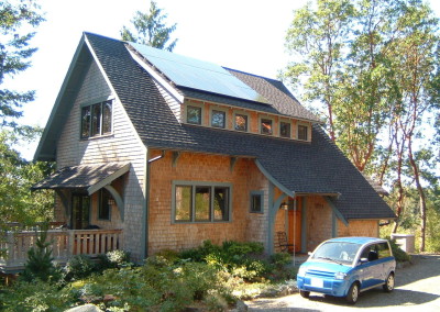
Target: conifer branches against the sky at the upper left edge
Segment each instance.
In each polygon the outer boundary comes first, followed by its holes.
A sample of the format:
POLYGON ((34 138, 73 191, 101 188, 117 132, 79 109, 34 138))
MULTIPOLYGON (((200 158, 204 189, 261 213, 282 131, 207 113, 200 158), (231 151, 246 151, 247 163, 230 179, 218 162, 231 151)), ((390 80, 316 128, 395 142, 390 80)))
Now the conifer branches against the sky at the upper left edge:
POLYGON ((14 78, 30 67, 30 57, 36 48, 30 41, 44 19, 40 7, 33 1, 0 2, 0 125, 16 126, 15 120, 22 115, 21 108, 34 99, 34 91, 19 92, 3 89, 6 78, 14 78))

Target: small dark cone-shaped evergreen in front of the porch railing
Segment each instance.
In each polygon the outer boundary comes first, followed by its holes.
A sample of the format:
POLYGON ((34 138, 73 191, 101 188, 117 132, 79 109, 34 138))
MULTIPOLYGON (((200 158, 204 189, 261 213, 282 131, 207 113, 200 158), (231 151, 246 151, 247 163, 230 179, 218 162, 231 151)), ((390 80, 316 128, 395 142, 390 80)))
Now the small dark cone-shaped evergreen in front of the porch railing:
POLYGON ((28 252, 28 261, 21 278, 25 281, 40 279, 42 281, 57 281, 61 277, 59 270, 54 266, 51 242, 47 241, 47 223, 36 232, 35 246, 28 252))

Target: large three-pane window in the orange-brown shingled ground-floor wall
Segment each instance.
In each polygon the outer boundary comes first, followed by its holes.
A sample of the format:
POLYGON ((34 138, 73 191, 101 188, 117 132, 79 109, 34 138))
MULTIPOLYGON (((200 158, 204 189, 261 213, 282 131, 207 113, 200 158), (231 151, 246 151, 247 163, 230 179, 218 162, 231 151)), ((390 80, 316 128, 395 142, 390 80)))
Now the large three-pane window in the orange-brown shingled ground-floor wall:
POLYGON ((228 183, 173 182, 173 185, 174 222, 230 221, 231 187, 228 183))

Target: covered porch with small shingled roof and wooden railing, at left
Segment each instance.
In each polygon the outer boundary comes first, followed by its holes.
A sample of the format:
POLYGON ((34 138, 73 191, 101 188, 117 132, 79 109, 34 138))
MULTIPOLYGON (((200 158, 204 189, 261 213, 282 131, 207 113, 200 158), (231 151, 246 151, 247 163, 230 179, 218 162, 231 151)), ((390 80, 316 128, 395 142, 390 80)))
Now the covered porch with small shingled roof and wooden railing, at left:
MULTIPOLYGON (((65 264, 75 255, 95 257, 123 248, 122 193, 130 166, 108 163, 64 167, 33 186, 33 190, 53 189, 56 193, 54 222, 46 238, 56 263, 65 264)), ((0 234, 0 270, 20 271, 41 229, 38 224, 10 224, 7 229, 0 234)))

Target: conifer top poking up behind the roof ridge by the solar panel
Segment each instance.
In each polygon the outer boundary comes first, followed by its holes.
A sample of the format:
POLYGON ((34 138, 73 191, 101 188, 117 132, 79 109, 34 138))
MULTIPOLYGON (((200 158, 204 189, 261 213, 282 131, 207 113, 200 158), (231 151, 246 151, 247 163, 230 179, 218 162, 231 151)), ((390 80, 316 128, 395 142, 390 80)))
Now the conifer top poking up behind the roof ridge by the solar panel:
POLYGON ((177 40, 174 40, 172 43, 168 43, 168 41, 170 40, 170 34, 176 30, 176 24, 166 26, 166 18, 167 14, 164 14, 163 10, 157 8, 156 2, 151 1, 147 13, 138 11, 133 20, 131 20, 136 33, 133 34, 130 29, 123 26, 121 37, 123 41, 145 44, 172 52, 176 46, 177 40))

